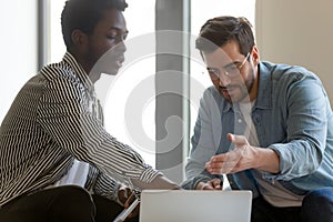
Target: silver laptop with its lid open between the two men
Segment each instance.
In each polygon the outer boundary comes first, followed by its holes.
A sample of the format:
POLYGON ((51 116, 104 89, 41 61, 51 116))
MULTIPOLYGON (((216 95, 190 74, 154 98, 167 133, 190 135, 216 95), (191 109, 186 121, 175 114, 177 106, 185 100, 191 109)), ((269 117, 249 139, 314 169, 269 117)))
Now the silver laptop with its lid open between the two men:
POLYGON ((140 222, 250 222, 251 191, 143 190, 140 222))

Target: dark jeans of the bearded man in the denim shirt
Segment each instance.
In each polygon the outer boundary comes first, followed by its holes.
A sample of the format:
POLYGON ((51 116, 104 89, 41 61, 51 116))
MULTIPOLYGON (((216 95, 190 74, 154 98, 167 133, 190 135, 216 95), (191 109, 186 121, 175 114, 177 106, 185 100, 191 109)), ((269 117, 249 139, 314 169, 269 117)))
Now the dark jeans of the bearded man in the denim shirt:
POLYGON ((275 208, 262 196, 256 198, 251 222, 333 222, 333 188, 309 192, 297 208, 275 208))

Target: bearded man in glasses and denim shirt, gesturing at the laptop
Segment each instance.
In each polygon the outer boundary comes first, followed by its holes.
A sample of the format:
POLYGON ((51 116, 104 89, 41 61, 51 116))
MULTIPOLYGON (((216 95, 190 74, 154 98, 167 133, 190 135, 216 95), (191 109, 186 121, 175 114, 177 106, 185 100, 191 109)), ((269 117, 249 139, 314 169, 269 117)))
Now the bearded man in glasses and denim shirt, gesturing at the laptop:
POLYGON ((208 20, 196 48, 213 87, 183 188, 221 190, 226 174, 231 189, 252 191, 251 221, 333 221, 333 119, 320 79, 260 61, 245 18, 208 20))

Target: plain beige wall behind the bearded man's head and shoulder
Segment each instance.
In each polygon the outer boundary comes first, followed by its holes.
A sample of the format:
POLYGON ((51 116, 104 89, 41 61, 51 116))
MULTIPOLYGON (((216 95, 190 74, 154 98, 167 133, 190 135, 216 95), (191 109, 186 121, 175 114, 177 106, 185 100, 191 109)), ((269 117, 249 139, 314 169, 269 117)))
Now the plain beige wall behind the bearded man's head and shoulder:
POLYGON ((262 60, 314 71, 333 101, 333 1, 256 0, 255 30, 262 60))

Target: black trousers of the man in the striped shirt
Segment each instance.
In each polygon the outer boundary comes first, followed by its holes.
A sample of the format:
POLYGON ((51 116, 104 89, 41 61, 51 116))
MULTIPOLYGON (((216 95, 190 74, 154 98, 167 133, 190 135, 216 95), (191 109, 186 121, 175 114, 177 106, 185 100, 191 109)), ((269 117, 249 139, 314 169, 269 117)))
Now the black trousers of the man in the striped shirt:
POLYGON ((112 222, 122 210, 121 205, 107 198, 67 185, 14 199, 0 209, 0 221, 112 222))

